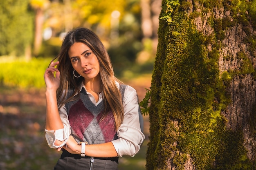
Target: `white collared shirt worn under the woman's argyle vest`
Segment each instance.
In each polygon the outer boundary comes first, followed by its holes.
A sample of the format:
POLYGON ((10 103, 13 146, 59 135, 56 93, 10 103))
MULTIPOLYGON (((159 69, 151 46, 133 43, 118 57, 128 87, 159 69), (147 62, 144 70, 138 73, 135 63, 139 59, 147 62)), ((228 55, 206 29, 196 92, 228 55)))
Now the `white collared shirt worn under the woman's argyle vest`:
MULTIPOLYGON (((119 88, 119 83, 116 82, 116 84, 119 88)), ((80 91, 82 88, 85 88, 85 86, 81 86, 80 91)), ((96 102, 92 94, 89 92, 87 92, 87 94, 95 106, 97 106, 97 104, 99 104, 103 99, 102 93, 99 94, 98 102, 96 102)), ((130 155, 133 157, 139 151, 141 144, 144 142, 145 136, 140 130, 140 113, 138 112, 139 104, 137 100, 137 93, 136 90, 131 86, 126 86, 124 91, 123 106, 124 120, 121 126, 117 129, 118 139, 111 142, 115 147, 119 157, 122 157, 123 155, 130 155)), ((45 129, 45 138, 50 148, 60 148, 61 146, 64 146, 71 134, 70 123, 65 106, 60 108, 59 114, 64 128, 55 130, 55 132, 54 130, 45 129), (64 141, 63 144, 60 146, 54 145, 56 139, 59 141, 64 141)))

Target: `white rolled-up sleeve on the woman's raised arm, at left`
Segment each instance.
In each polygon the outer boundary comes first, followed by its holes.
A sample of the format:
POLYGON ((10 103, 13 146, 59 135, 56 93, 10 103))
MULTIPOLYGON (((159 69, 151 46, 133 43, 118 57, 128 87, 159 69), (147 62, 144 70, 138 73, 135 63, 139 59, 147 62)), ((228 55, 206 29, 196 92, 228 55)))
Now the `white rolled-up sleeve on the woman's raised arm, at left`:
POLYGON ((64 146, 67 142, 68 137, 71 134, 70 122, 67 117, 67 110, 65 106, 62 106, 60 108, 59 114, 60 114, 61 121, 63 123, 64 128, 58 129, 55 131, 45 129, 45 139, 50 148, 60 148, 64 146), (63 143, 60 146, 56 146, 54 145, 56 140, 63 141, 63 143))

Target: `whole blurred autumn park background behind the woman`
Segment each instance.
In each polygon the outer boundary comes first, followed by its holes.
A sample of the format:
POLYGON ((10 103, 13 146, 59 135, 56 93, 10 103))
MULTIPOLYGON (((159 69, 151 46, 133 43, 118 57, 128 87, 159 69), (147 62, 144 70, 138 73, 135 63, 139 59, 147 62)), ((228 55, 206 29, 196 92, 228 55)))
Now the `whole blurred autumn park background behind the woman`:
MULTIPOLYGON (((108 49, 115 75, 137 90, 150 88, 157 49, 161 0, 0 1, 0 170, 53 169, 61 152, 44 137, 43 74, 76 27, 92 29, 108 49)), ((135 157, 119 159, 119 170, 144 170, 146 140, 135 157)))

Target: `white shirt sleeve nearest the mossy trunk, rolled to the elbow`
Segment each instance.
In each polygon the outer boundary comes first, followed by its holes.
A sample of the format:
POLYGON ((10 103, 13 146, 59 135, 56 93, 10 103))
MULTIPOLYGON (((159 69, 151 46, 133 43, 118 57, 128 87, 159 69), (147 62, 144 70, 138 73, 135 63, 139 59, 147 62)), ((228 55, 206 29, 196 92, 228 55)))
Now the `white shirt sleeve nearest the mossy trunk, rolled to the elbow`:
POLYGON ((124 120, 117 129, 117 140, 113 140, 118 156, 130 155, 133 157, 139 152, 140 146, 144 142, 145 136, 141 132, 139 122, 139 103, 137 93, 134 88, 126 86, 124 93, 124 120))

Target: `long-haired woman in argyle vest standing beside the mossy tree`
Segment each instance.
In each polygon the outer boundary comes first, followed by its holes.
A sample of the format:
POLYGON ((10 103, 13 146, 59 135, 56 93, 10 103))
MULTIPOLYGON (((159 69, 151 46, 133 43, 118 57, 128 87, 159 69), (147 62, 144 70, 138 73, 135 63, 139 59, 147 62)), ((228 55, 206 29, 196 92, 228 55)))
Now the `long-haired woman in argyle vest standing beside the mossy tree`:
POLYGON ((67 33, 56 58, 44 75, 45 137, 63 151, 54 169, 116 170, 118 157, 134 156, 144 141, 135 89, 114 76, 105 47, 89 29, 67 33))

